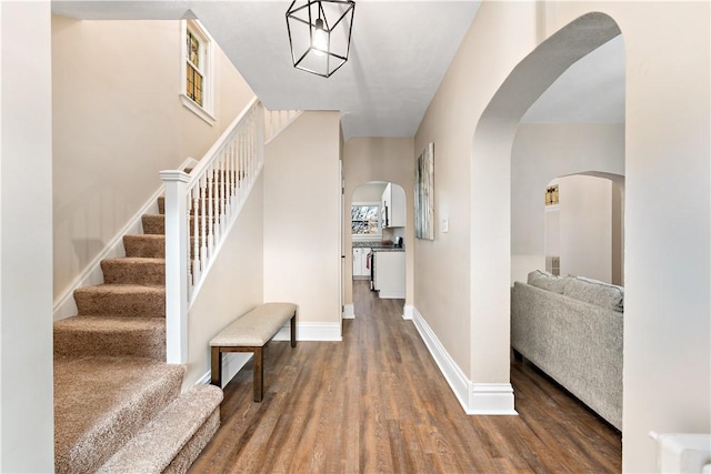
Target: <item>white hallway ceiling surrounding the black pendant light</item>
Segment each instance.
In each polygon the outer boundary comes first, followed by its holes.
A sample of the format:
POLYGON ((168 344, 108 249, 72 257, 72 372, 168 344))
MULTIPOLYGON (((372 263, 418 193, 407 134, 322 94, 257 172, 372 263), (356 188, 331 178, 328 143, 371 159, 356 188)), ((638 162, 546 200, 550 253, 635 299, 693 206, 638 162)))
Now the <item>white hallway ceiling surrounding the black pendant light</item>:
POLYGON ((349 61, 328 79, 292 67, 288 6, 238 2, 199 17, 268 109, 340 110, 348 139, 417 132, 478 2, 357 2, 349 61))

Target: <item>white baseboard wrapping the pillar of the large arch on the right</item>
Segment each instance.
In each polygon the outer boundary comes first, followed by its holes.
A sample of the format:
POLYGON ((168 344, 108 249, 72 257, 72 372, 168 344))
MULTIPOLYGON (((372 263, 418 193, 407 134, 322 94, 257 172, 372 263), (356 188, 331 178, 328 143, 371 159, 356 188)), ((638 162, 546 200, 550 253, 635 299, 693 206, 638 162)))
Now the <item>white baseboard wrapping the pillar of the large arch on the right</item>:
POLYGON ((468 415, 518 415, 510 383, 473 383, 457 365, 422 314, 412 306, 414 326, 468 415))

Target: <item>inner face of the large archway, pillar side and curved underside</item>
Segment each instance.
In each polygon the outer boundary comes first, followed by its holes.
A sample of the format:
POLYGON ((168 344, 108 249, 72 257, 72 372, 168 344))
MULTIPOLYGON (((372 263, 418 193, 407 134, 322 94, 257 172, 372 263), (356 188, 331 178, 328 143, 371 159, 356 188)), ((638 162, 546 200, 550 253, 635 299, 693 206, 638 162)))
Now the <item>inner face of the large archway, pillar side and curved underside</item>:
MULTIPOLYGON (((589 13, 569 23, 512 70, 474 131, 471 189, 477 192, 472 193, 471 201, 470 259, 471 292, 475 297, 471 299, 471 361, 473 365, 489 361, 489 373, 474 374, 474 393, 470 396, 473 404, 479 396, 482 404, 491 400, 483 385, 493 379, 492 360, 498 361, 497 371, 509 372, 513 260, 511 167, 517 130, 530 107, 568 68, 619 34, 617 23, 603 13, 589 13), (481 195, 497 199, 484 201, 479 199, 481 195), (475 380, 477 376, 481 376, 481 381, 475 380), (479 382, 481 394, 477 393, 479 382)), ((542 185, 538 189, 542 190, 542 185)), ((542 192, 538 195, 542 206, 542 192)), ((542 215, 540 222, 542 225, 542 215)), ((513 394, 505 393, 503 387, 500 392, 495 402, 498 411, 513 411, 513 394)))

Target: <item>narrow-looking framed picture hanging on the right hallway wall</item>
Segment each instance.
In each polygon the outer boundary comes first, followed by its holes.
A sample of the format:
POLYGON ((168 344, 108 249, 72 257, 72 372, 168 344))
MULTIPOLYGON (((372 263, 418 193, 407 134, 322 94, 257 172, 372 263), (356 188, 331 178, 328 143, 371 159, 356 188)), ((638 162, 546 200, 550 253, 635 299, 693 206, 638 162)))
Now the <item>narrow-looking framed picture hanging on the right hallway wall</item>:
POLYGON ((414 163, 414 236, 434 240, 434 143, 414 163))

